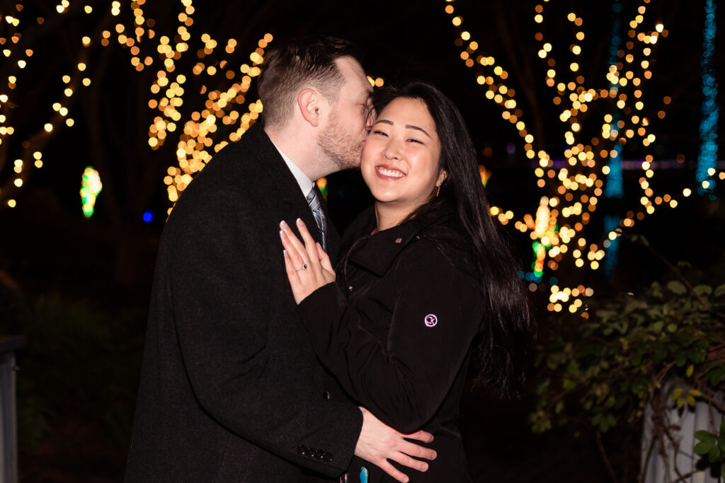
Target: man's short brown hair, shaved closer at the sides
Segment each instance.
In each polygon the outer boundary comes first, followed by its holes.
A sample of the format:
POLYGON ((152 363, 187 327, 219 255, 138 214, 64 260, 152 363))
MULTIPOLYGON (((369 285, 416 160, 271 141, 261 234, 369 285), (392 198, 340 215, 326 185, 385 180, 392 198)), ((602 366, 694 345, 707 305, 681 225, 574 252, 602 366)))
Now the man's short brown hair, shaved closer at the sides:
POLYGON ((336 102, 344 81, 336 60, 345 56, 357 62, 362 57, 352 42, 331 37, 302 38, 270 51, 257 86, 265 125, 284 125, 303 88, 315 88, 336 102))

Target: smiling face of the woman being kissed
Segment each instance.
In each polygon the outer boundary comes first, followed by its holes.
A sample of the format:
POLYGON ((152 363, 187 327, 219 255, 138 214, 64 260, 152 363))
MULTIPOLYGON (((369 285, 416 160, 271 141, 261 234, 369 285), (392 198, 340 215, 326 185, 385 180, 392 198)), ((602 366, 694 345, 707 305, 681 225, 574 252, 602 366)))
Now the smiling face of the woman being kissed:
POLYGON ((446 177, 439 169, 441 143, 421 99, 396 98, 376 119, 363 146, 360 169, 380 203, 408 213, 433 195, 446 177))

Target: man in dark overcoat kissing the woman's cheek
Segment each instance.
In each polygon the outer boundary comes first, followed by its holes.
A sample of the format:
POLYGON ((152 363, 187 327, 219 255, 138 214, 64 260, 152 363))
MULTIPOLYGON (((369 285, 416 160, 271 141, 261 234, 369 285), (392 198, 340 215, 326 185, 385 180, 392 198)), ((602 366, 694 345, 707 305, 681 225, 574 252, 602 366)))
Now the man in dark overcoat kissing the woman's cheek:
POLYGON ((299 217, 336 253, 312 180, 359 164, 370 84, 351 44, 318 38, 270 53, 259 91, 263 130, 220 151, 164 229, 126 480, 298 482, 354 453, 405 482, 388 459, 422 471, 409 455, 434 452, 331 396, 278 236, 299 217))

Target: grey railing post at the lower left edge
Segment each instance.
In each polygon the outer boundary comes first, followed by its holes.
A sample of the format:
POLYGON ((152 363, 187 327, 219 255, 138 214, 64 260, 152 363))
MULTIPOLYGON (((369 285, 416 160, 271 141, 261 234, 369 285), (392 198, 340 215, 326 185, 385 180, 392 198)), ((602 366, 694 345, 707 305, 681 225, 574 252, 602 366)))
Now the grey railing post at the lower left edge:
POLYGON ((0 337, 0 483, 17 483, 15 351, 25 337, 0 337))

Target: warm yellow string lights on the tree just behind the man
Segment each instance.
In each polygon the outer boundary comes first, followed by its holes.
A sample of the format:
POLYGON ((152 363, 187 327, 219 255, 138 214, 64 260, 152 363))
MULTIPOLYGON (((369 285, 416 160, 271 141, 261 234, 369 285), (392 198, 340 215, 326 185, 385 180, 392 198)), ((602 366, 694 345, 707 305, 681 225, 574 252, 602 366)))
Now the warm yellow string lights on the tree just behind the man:
MULTIPOLYGON (((148 143, 150 148, 157 150, 167 142, 167 138, 178 133, 177 165, 169 167, 164 177, 167 196, 175 203, 181 191, 188 186, 197 172, 204 169, 213 154, 228 143, 239 140, 260 116, 261 101, 257 99, 245 104, 249 101, 246 94, 252 80, 260 75, 259 66, 264 61, 265 48, 273 40, 273 36, 270 33, 265 34, 257 42, 257 49, 249 54, 250 62, 234 68, 228 57, 237 49, 237 41, 228 39, 221 51, 220 43, 204 33, 200 37, 203 47, 196 51, 196 64, 188 72, 178 72, 179 59, 193 54, 190 53, 188 44, 191 41, 189 28, 194 25, 195 9, 192 1, 181 0, 177 35, 173 40, 166 35, 156 35, 153 30, 155 21, 144 16, 144 3, 145 0, 131 3, 133 30, 117 24, 115 32, 117 42, 130 52, 130 63, 137 71, 152 67, 157 62, 161 64, 157 67, 156 79, 150 87, 148 105, 157 115, 149 125, 148 143), (142 54, 141 48, 148 45, 154 51, 149 55, 142 54), (180 109, 184 104, 185 94, 188 93, 188 81, 192 77, 203 79, 200 92, 206 94, 206 100, 203 108, 191 112, 190 119, 183 121, 180 109), (241 80, 231 83, 225 91, 207 88, 210 84, 218 85, 222 78, 222 82, 231 82, 238 77, 241 80), (228 132, 225 138, 220 138, 217 134, 222 131, 221 126, 225 127, 224 132, 228 132)), ((120 4, 114 8, 119 7, 120 4)), ((102 37, 101 44, 109 45, 111 33, 104 31, 102 37)))

